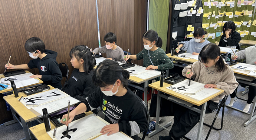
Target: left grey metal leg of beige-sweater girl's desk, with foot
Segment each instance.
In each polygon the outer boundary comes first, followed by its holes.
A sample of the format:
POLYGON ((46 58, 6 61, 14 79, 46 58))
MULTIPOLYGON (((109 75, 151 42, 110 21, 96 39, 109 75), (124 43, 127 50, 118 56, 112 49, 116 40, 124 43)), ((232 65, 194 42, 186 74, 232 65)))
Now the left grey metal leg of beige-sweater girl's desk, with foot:
POLYGON ((159 117, 160 117, 160 105, 161 105, 161 97, 159 96, 161 91, 157 93, 157 114, 155 119, 155 130, 148 134, 149 137, 152 137, 156 133, 160 132, 161 130, 165 129, 166 127, 171 125, 171 122, 167 123, 165 126, 159 125, 159 117), (159 127, 160 126, 160 127, 159 127))

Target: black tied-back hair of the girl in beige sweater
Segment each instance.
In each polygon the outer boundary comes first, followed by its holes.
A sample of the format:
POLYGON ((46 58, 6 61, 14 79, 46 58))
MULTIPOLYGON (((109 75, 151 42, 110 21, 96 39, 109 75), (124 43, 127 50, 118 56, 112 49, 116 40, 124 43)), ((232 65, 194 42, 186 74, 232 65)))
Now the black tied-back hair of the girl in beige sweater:
POLYGON ((208 60, 215 60, 218 56, 220 59, 217 61, 217 72, 221 72, 227 69, 226 64, 224 63, 223 58, 220 55, 220 47, 214 43, 209 43, 203 47, 199 53, 198 60, 202 63, 208 63, 208 60))

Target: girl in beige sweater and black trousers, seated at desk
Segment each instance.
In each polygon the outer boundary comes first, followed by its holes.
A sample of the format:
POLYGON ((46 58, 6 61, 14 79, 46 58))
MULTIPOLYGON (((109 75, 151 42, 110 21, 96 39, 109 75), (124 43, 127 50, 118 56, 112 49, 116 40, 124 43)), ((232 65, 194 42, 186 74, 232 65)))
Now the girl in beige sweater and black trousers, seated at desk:
MULTIPOLYGON (((238 83, 230 68, 220 56, 219 46, 209 43, 203 47, 199 53, 199 61, 185 67, 182 71, 183 76, 195 78, 195 81, 206 84, 205 88, 220 88, 224 92, 207 102, 206 113, 210 113, 217 108, 220 99, 225 95, 231 94, 238 83)), ((194 107, 201 109, 201 106, 194 107)), ((185 136, 200 120, 200 113, 180 106, 174 114, 174 123, 169 132, 170 136, 159 136, 159 140, 178 140, 185 136)))

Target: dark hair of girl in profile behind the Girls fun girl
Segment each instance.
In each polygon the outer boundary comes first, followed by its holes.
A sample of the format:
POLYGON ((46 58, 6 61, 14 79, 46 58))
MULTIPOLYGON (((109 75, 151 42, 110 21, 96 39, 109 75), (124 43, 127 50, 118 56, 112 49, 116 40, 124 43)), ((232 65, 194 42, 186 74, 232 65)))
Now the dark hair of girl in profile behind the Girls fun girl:
POLYGON ((75 46, 70 50, 69 56, 73 56, 79 61, 83 59, 83 70, 86 74, 89 74, 93 70, 93 67, 96 65, 95 56, 90 51, 90 49, 85 45, 75 46))

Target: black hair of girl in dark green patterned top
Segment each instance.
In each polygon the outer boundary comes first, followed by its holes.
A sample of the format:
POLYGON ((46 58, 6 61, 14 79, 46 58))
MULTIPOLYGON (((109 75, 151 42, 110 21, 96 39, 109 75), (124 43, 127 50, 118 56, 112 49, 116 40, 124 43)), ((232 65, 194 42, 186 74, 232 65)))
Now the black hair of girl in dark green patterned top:
POLYGON ((158 48, 161 48, 163 45, 163 41, 160 38, 160 36, 158 36, 157 32, 152 29, 145 32, 143 34, 142 38, 145 38, 145 39, 149 40, 150 42, 155 41, 155 46, 157 46, 158 48))

